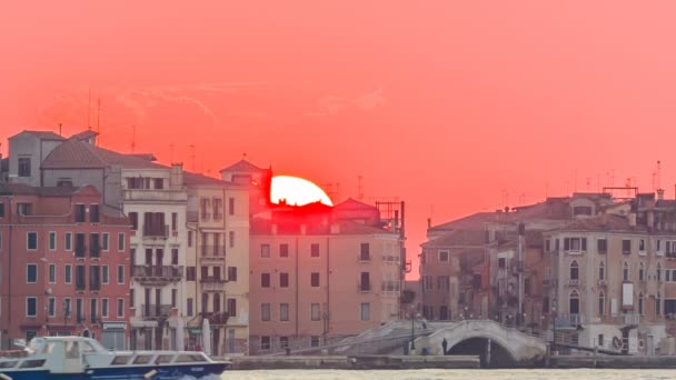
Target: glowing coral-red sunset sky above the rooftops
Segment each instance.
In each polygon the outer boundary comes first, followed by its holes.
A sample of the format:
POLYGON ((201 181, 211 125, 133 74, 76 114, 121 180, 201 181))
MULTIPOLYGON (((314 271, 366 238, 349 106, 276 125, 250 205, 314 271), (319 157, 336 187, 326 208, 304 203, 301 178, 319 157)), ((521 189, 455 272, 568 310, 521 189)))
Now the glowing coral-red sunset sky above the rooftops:
POLYGON ((0 151, 61 123, 210 176, 246 157, 335 201, 405 201, 416 260, 428 218, 627 183, 674 198, 674 14, 673 1, 3 2, 0 151))

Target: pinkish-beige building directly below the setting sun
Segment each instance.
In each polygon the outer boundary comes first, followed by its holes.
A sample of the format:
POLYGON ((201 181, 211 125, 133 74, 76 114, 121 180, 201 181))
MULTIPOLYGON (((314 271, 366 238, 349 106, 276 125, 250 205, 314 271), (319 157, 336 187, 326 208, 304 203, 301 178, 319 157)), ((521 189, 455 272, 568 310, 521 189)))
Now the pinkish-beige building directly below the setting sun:
POLYGON ((355 200, 251 221, 251 353, 319 347, 399 314, 402 238, 355 200))

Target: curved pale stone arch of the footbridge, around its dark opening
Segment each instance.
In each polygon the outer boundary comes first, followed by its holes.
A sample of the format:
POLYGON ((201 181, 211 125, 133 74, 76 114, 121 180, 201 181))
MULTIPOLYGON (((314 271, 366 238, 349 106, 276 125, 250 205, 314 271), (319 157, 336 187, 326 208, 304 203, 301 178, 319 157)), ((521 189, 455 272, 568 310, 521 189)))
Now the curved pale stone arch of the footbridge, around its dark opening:
POLYGON ((546 354, 546 343, 543 339, 530 337, 513 328, 491 320, 466 320, 440 329, 428 337, 416 340, 416 348, 427 348, 431 354, 443 354, 441 342, 446 339, 447 350, 466 342, 489 340, 494 350, 503 350, 514 361, 515 366, 530 364, 540 361, 546 354))

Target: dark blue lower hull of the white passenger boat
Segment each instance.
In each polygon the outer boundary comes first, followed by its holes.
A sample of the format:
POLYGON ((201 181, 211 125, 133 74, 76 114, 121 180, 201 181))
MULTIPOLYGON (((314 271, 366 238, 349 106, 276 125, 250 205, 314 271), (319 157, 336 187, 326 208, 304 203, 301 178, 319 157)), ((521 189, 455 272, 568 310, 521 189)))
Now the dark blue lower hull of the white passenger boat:
POLYGON ((7 371, 3 373, 12 380, 41 380, 41 379, 72 379, 72 380, 179 380, 179 379, 201 379, 206 377, 220 376, 227 363, 203 363, 190 366, 162 366, 162 367, 108 367, 90 368, 84 373, 50 373, 47 370, 39 371, 7 371), (151 372, 156 371, 156 372, 151 372), (147 374, 152 374, 146 378, 147 374))

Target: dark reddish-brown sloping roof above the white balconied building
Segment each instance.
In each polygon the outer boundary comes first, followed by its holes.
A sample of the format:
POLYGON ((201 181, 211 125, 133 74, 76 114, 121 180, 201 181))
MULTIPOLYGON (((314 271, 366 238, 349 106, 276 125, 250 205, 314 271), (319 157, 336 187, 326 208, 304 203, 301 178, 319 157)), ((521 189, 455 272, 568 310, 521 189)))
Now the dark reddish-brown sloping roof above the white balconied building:
POLYGON ((42 161, 44 169, 96 169, 119 164, 126 169, 166 169, 135 154, 118 153, 105 148, 95 147, 78 139, 69 139, 59 144, 42 161))

